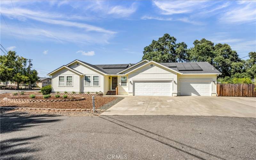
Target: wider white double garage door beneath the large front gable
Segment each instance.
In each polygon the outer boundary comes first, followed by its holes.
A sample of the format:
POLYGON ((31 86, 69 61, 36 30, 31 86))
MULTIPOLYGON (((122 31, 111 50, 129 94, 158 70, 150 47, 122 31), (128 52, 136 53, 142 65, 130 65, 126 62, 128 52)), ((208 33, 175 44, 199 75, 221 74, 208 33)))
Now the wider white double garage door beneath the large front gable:
POLYGON ((134 95, 171 96, 171 81, 135 82, 134 95))

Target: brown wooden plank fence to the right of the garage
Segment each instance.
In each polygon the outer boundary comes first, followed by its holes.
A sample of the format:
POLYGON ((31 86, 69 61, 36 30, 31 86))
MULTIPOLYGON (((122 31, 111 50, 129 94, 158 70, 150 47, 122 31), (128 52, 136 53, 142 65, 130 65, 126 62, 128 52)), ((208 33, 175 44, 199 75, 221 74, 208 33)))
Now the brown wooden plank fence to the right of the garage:
POLYGON ((218 96, 256 97, 254 84, 217 84, 218 96))

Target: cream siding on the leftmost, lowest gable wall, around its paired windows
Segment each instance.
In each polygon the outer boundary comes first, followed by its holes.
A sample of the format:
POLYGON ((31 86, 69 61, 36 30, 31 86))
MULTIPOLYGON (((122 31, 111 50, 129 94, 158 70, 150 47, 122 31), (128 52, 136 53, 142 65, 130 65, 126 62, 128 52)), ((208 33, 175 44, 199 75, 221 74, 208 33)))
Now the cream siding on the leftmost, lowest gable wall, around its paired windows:
POLYGON ((79 90, 80 76, 63 68, 52 75, 52 91, 53 92, 80 92, 79 90), (59 86, 59 76, 64 76, 65 86, 59 86), (66 76, 72 76, 72 86, 66 86, 66 76))

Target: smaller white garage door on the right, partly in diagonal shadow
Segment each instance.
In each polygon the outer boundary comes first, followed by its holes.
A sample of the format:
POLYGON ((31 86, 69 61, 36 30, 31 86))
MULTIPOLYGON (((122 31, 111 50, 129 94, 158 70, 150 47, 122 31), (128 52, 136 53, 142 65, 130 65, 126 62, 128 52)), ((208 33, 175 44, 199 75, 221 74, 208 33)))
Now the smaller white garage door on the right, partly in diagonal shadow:
POLYGON ((182 96, 210 96, 210 81, 181 81, 180 94, 182 96))

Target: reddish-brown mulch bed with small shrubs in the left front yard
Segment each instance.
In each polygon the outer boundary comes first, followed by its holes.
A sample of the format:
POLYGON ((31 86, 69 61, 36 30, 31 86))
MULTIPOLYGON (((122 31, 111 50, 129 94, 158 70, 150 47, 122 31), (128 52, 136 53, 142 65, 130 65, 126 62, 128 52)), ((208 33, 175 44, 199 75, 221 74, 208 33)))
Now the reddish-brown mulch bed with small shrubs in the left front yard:
MULTIPOLYGON (((31 93, 37 95, 42 95, 41 93, 31 93)), ((21 97, 12 96, 10 93, 0 94, 0 107, 29 107, 29 108, 56 108, 56 109, 92 109, 92 96, 77 95, 79 97, 84 97, 85 100, 80 101, 64 101, 64 102, 8 102, 3 100, 4 97, 21 97)), ((28 96, 25 96, 28 98, 28 96)), ((53 96, 52 96, 53 97, 53 96)), ((68 96, 69 97, 69 96, 68 96)), ((103 97, 95 96, 95 108, 98 109, 101 106, 116 100, 117 97, 103 97)))

